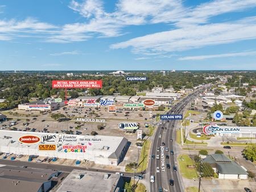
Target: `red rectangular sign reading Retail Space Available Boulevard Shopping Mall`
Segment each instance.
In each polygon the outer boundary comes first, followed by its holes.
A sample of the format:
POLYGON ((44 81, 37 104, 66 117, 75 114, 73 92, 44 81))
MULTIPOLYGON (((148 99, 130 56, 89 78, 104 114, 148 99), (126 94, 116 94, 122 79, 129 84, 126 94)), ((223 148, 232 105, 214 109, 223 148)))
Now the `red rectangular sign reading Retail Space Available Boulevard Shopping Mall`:
POLYGON ((55 89, 87 89, 102 88, 102 80, 53 80, 52 88, 55 89))

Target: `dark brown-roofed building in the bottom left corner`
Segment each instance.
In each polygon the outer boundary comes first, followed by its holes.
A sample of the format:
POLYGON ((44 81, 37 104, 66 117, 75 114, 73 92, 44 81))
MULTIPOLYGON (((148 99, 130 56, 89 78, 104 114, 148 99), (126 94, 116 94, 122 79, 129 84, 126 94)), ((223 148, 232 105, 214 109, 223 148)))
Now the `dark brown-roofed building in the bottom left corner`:
POLYGON ((5 192, 46 192, 51 189, 52 177, 59 173, 48 169, 21 168, 18 166, 0 167, 0 191, 5 192))

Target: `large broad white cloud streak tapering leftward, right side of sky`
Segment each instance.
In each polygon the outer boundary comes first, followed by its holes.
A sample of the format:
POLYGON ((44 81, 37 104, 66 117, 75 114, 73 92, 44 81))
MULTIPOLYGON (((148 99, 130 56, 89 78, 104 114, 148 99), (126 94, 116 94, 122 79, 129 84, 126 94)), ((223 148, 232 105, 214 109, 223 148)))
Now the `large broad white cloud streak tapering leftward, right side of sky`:
POLYGON ((111 48, 132 47, 134 53, 142 54, 148 50, 175 52, 248 39, 256 39, 256 16, 237 22, 190 26, 158 32, 113 44, 111 48))

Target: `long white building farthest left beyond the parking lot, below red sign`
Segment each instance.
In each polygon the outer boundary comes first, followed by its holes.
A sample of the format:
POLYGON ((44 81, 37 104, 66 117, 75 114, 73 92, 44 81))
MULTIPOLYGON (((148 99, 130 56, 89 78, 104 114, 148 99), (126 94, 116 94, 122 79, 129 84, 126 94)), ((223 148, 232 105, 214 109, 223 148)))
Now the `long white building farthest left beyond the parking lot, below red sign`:
POLYGON ((19 110, 39 110, 39 111, 54 111, 58 110, 60 107, 65 106, 64 102, 51 102, 51 104, 46 104, 43 101, 34 101, 30 103, 18 105, 19 110))

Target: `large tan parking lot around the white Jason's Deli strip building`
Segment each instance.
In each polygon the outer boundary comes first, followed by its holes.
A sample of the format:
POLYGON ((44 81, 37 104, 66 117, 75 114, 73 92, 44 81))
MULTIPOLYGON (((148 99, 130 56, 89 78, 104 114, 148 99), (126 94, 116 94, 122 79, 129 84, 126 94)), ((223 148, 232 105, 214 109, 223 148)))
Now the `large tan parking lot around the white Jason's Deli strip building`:
MULTIPOLYGON (((152 115, 157 113, 163 113, 160 111, 152 111, 152 115)), ((140 124, 140 129, 148 133, 145 128, 145 123, 154 124, 155 119, 150 119, 149 111, 122 111, 122 112, 108 112, 105 107, 73 107, 66 106, 59 110, 52 112, 40 112, 40 111, 23 111, 23 110, 9 110, 4 114, 8 120, 0 124, 0 128, 3 130, 18 130, 27 132, 55 132, 55 133, 73 133, 81 135, 90 135, 92 131, 98 133, 98 135, 108 136, 123 136, 131 142, 129 150, 125 156, 125 159, 119 164, 119 169, 124 170, 127 163, 137 160, 137 133, 129 133, 118 128, 118 124, 121 122, 136 122, 140 124), (52 114, 63 114, 65 119, 63 121, 55 120, 51 118, 52 114), (80 122, 77 118, 88 119, 105 119, 104 123, 100 122, 80 122), (15 124, 14 124, 15 122, 15 124), (11 125, 13 123, 13 125, 11 125), (99 127, 104 127, 100 130, 99 127)), ((39 157, 40 158, 40 157, 39 157)), ((43 157, 42 157, 43 158, 43 157)), ((19 160, 26 160, 27 157, 19 158, 19 160)), ((56 163, 72 165, 73 161, 59 160, 56 163)), ((51 162, 52 163, 52 162, 51 162)), ((94 165, 92 162, 84 162, 84 166, 100 166, 94 165)), ((82 166, 82 165, 81 165, 82 166)), ((102 166, 100 166, 102 167, 102 166)))

